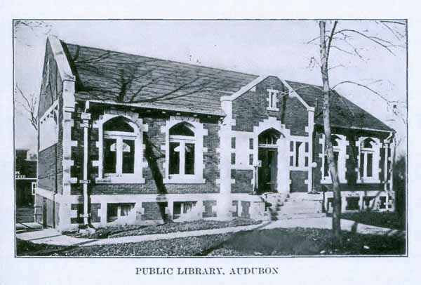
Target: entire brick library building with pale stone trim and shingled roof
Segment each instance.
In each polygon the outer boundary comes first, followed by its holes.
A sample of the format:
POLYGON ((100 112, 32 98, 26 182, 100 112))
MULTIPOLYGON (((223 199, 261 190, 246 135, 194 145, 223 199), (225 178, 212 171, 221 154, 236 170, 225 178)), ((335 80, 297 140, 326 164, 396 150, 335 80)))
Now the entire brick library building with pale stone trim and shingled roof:
MULTIPOLYGON (((50 37, 35 203, 60 230, 331 211, 321 102, 319 86, 50 37)), ((343 211, 393 210, 394 130, 332 105, 343 211)))

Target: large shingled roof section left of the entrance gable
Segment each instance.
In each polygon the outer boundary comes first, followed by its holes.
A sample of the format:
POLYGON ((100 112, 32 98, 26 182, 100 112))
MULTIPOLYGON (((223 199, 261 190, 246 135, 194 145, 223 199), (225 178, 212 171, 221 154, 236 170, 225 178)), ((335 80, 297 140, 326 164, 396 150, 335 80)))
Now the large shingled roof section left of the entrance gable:
POLYGON ((62 42, 76 100, 224 116, 220 97, 258 76, 62 42))

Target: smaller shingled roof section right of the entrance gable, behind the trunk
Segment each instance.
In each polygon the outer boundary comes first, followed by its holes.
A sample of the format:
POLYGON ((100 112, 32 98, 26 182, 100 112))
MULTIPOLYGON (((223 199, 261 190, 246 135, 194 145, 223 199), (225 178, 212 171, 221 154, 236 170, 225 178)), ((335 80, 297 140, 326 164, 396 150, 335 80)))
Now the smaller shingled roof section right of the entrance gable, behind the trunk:
MULTIPOLYGON (((323 125, 323 93, 321 92, 323 88, 294 81, 287 81, 287 83, 309 106, 316 107, 314 112, 316 119, 314 119, 314 122, 323 125)), ((332 126, 394 131, 393 128, 387 126, 380 119, 377 119, 336 92, 333 92, 330 97, 330 108, 330 124, 332 126)))

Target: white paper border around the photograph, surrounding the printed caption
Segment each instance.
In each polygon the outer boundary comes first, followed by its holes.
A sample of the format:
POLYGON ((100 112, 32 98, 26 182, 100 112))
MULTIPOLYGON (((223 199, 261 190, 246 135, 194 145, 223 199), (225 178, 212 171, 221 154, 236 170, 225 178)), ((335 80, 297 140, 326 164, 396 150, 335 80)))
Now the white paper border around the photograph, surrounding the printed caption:
MULTIPOLYGON (((420 129, 421 112, 417 112, 421 99, 417 79, 421 76, 420 55, 418 46, 421 43, 421 34, 418 32, 420 25, 420 6, 415 1, 384 1, 355 0, 349 5, 339 1, 293 1, 285 5, 279 1, 267 1, 264 5, 260 1, 212 1, 205 4, 197 1, 166 1, 165 4, 157 2, 142 3, 127 1, 122 4, 92 0, 74 0, 62 5, 60 2, 39 0, 30 1, 5 1, 2 4, 0 29, 4 41, 1 41, 4 62, 0 76, 5 84, 1 84, 1 112, 0 119, 4 124, 1 128, 1 166, 6 171, 1 173, 2 184, 7 189, 13 188, 13 134, 12 134, 12 58, 11 56, 11 19, 12 18, 409 18, 410 29, 408 47, 410 56, 410 188, 420 185, 421 178, 417 175, 417 161, 420 161, 420 129), (162 7, 166 7, 163 9, 162 7)), ((415 190, 415 189, 414 189, 415 190)), ((10 193, 10 191, 7 191, 10 193)), ((242 284, 275 284, 288 282, 290 284, 419 284, 420 274, 420 240, 421 229, 417 226, 420 216, 417 203, 421 201, 419 191, 410 191, 409 222, 410 222, 410 257, 409 258, 213 258, 194 259, 194 266, 277 266, 281 268, 281 275, 243 275, 243 276, 139 276, 134 274, 136 266, 189 266, 192 260, 188 259, 22 259, 13 258, 13 197, 3 194, 1 208, 5 217, 1 219, 1 281, 5 284, 119 284, 122 281, 136 284, 158 283, 167 284, 229 284, 231 282, 242 284), (112 270, 109 270, 112 268, 112 270), (304 270, 304 271, 303 271, 304 270), (22 274, 25 272, 25 274, 22 274), (77 272, 77 274, 75 274, 77 272), (356 272, 358 272, 356 274, 356 272), (304 273, 304 274, 303 274, 304 273)))

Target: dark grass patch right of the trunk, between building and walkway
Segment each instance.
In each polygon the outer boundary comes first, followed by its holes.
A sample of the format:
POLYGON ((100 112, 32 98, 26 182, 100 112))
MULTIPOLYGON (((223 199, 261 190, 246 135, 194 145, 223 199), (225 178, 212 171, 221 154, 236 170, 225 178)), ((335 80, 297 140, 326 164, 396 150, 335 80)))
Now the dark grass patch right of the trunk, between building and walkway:
POLYGON ((405 230, 404 219, 397 212, 355 212, 342 213, 342 218, 354 220, 356 223, 375 225, 377 227, 388 227, 394 230, 405 230))

